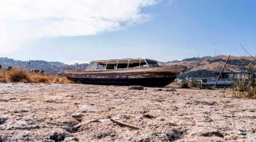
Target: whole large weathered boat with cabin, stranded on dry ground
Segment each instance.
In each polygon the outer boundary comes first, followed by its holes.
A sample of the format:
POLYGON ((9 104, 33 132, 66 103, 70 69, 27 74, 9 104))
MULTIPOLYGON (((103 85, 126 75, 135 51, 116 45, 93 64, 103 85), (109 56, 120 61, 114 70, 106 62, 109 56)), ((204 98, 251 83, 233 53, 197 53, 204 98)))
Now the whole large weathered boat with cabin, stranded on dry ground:
POLYGON ((185 66, 159 66, 156 60, 95 60, 86 70, 66 70, 73 82, 97 85, 156 86, 169 85, 185 66))

